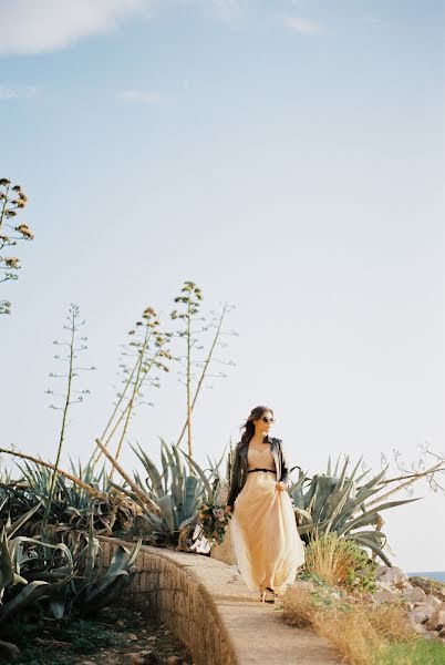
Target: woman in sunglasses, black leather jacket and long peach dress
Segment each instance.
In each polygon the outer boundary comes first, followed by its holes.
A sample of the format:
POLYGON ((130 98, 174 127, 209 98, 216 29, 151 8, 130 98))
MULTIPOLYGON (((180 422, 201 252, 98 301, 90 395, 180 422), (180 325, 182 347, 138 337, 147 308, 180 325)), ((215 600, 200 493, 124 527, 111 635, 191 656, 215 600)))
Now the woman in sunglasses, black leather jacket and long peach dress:
POLYGON ((281 440, 269 436, 273 422, 273 411, 260 406, 244 424, 226 507, 232 512, 230 533, 241 576, 268 603, 294 581, 304 562, 286 491, 289 470, 281 440))

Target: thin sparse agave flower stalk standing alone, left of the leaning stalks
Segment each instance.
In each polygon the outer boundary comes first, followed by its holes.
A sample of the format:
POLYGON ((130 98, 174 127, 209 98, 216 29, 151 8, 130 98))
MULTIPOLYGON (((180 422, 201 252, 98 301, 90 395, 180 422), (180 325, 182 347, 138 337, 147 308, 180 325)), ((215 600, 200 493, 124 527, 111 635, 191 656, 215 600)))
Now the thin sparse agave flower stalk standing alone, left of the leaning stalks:
MULTIPOLYGON (((46 392, 49 395, 58 395, 64 398, 64 405, 63 407, 58 407, 53 403, 50 405, 50 408, 52 409, 56 409, 56 410, 61 410, 62 411, 62 422, 61 422, 61 429, 60 429, 60 437, 59 437, 59 447, 58 447, 58 454, 55 458, 55 464, 54 464, 54 470, 52 472, 52 477, 51 477, 51 483, 50 483, 50 489, 49 489, 49 494, 48 494, 48 500, 46 500, 46 505, 45 505, 45 511, 44 511, 44 515, 43 515, 43 522, 42 522, 42 533, 44 533, 46 523, 48 523, 48 519, 50 515, 50 510, 51 510, 51 503, 52 503, 52 499, 53 499, 53 494, 54 494, 54 489, 55 489, 55 483, 56 483, 56 479, 58 479, 58 468, 59 468, 59 463, 60 463, 60 458, 62 454, 62 448, 63 448, 63 442, 65 439, 65 430, 66 430, 66 423, 68 423, 68 413, 69 410, 71 408, 72 405, 79 403, 83 401, 83 395, 84 393, 89 393, 90 390, 75 390, 73 387, 73 379, 75 376, 77 376, 77 372, 80 370, 94 370, 96 369, 94 366, 93 367, 76 367, 75 366, 75 359, 77 358, 76 356, 76 351, 83 351, 86 349, 86 346, 84 344, 81 344, 80 347, 76 347, 77 344, 77 331, 80 329, 81 326, 83 326, 85 324, 85 321, 77 321, 79 319, 79 306, 75 304, 71 304, 70 305, 70 311, 69 315, 66 317, 70 321, 69 326, 63 326, 65 329, 70 330, 70 341, 69 342, 59 342, 58 340, 54 340, 53 344, 60 345, 60 346, 69 346, 69 354, 68 357, 61 357, 59 355, 54 356, 54 358, 56 360, 60 360, 62 362, 68 362, 68 374, 54 374, 51 372, 50 377, 53 378, 64 378, 66 379, 66 395, 63 393, 54 393, 52 390, 48 389, 46 392), (75 393, 77 393, 77 397, 75 397, 75 393)), ((86 341, 86 337, 80 337, 79 340, 81 342, 86 341)))

